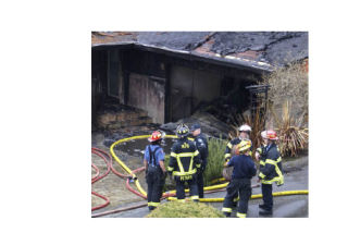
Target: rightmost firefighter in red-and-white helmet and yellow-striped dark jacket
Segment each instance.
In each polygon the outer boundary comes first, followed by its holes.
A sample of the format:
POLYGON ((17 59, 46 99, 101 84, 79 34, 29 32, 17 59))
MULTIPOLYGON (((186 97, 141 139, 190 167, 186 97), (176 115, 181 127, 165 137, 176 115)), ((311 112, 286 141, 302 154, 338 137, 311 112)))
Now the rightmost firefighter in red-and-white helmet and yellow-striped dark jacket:
POLYGON ((259 149, 260 156, 260 173, 261 191, 263 204, 259 205, 260 216, 269 216, 273 213, 273 196, 272 184, 276 182, 277 186, 284 184, 282 171, 282 157, 275 142, 278 139, 274 131, 266 131, 263 137, 264 145, 259 149))

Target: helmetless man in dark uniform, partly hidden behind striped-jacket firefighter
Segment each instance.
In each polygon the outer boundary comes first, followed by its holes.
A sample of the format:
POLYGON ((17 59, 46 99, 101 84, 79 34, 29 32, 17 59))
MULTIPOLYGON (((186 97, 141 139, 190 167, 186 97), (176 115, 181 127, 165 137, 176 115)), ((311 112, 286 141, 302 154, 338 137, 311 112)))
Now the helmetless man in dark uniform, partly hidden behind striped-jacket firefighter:
POLYGON ((201 133, 201 127, 199 123, 195 123, 191 126, 191 134, 195 137, 195 144, 199 151, 199 157, 201 159, 201 168, 197 172, 197 185, 198 185, 198 196, 199 198, 203 198, 204 197, 203 172, 208 164, 208 140, 206 135, 201 133))

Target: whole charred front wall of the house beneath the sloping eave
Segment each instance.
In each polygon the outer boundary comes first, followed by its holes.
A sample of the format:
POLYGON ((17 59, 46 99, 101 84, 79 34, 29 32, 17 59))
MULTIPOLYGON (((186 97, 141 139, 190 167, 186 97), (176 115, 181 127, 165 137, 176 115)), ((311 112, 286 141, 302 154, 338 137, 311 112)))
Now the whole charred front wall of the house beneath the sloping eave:
POLYGON ((221 97, 232 100, 224 103, 238 101, 237 108, 245 108, 249 102, 239 98, 240 91, 247 93, 245 86, 256 82, 249 78, 253 75, 185 57, 133 47, 103 47, 92 50, 92 112, 103 105, 103 98, 145 110, 153 123, 188 118, 221 97), (233 96, 238 99, 229 98, 233 96))

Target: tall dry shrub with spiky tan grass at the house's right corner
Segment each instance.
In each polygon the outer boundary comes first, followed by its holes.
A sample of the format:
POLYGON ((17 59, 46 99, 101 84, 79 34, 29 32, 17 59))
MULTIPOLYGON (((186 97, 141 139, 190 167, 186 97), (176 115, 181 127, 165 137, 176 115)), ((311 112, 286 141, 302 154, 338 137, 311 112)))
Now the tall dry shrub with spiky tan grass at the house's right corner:
POLYGON ((308 147, 308 71, 296 62, 263 79, 271 86, 266 128, 277 132, 282 156, 295 157, 308 147))

